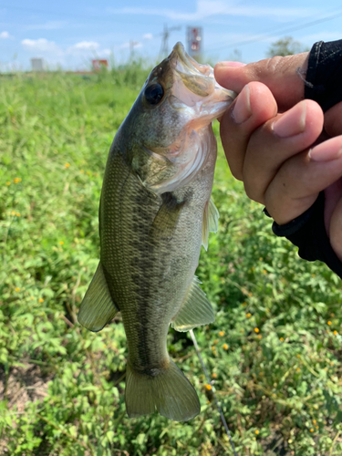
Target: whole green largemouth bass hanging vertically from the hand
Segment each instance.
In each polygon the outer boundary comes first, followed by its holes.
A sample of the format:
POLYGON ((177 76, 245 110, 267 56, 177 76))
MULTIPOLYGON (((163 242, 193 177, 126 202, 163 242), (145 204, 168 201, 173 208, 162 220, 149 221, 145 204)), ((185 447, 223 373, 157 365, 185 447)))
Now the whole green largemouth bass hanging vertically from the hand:
POLYGON ((235 94, 181 43, 153 68, 109 150, 99 203, 100 261, 78 322, 100 331, 121 313, 128 344, 130 418, 155 412, 187 421, 201 411, 171 360, 169 326, 208 325, 212 306, 195 276, 216 232, 211 193, 217 144, 212 120, 235 94))

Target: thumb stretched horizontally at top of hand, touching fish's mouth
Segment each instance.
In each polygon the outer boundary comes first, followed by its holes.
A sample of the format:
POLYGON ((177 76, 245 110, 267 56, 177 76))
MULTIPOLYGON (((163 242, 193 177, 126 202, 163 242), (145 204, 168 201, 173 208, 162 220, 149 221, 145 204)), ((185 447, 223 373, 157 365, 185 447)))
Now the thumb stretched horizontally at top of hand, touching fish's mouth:
POLYGON ((304 98, 307 60, 308 53, 304 52, 266 58, 244 67, 230 67, 220 62, 214 68, 214 75, 219 84, 238 93, 251 81, 262 82, 274 94, 279 110, 284 111, 304 98))

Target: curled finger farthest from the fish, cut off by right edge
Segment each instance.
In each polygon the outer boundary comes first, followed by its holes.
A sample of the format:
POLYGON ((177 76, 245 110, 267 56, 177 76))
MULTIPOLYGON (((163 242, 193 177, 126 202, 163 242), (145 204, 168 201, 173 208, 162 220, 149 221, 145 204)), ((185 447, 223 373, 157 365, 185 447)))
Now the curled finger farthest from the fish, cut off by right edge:
POLYGON ((264 194, 275 222, 285 224, 305 212, 323 191, 342 176, 342 136, 296 154, 281 166, 264 194))

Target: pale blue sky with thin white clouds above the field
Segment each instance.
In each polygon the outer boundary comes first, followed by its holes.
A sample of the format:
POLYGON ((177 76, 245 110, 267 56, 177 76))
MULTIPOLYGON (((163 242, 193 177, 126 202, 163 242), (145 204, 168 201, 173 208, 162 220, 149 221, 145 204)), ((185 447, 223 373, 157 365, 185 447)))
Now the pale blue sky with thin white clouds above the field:
POLYGON ((92 58, 123 64, 161 57, 164 27, 168 50, 187 26, 202 27, 204 60, 266 57, 272 43, 293 36, 303 47, 342 38, 340 0, 0 0, 0 71, 30 69, 41 57, 54 69, 87 69, 92 58), (133 55, 132 55, 133 52, 133 55))

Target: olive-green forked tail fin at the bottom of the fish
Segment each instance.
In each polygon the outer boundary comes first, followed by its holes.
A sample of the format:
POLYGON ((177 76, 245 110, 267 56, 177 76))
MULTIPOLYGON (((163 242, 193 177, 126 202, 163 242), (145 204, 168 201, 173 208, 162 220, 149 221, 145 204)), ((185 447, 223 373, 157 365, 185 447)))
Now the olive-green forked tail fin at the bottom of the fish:
POLYGON ((201 411, 200 401, 190 381, 170 360, 169 368, 155 376, 140 374, 127 365, 126 409, 130 418, 153 413, 174 421, 187 421, 201 411))

